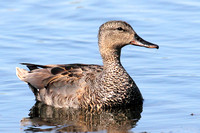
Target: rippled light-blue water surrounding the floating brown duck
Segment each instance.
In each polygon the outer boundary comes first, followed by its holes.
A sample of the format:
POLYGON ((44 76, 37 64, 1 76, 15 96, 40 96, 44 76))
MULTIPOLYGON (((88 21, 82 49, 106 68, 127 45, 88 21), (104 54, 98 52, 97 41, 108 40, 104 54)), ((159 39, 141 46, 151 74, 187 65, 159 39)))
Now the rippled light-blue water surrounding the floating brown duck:
POLYGON ((0 132, 56 132, 70 125, 31 121, 34 96, 16 77, 15 67, 22 67, 20 62, 102 64, 97 33, 109 20, 127 21, 142 38, 160 46, 122 50, 122 64, 145 99, 143 112, 123 131, 111 127, 122 126, 124 119, 110 127, 103 120, 90 126, 90 120, 81 120, 78 127, 100 133, 200 132, 199 16, 198 0, 0 1, 0 132))

